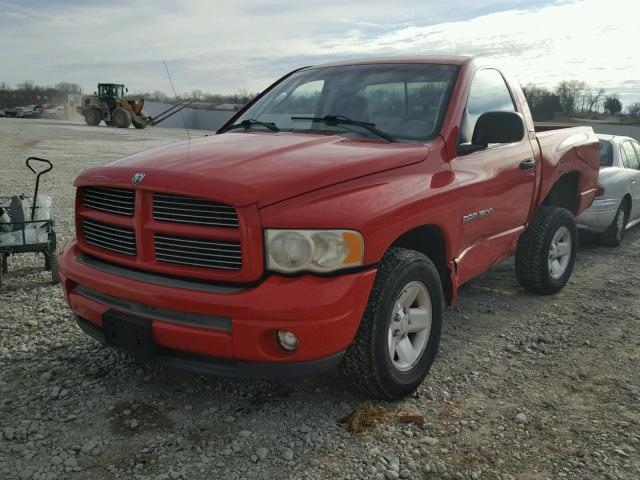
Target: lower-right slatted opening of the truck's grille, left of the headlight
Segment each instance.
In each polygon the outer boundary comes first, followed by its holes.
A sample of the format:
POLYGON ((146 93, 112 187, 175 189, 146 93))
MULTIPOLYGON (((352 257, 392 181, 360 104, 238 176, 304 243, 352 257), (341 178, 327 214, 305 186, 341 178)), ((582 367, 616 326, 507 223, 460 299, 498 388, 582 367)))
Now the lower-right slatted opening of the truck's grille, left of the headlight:
POLYGON ((205 240, 156 234, 156 260, 194 267, 240 270, 240 242, 205 240))

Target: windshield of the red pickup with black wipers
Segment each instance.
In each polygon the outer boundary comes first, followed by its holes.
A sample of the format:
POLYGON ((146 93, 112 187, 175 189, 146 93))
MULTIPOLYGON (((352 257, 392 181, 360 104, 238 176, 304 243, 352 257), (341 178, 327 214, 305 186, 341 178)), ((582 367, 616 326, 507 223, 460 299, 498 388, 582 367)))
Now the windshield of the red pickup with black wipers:
POLYGON ((247 130, 267 130, 262 123, 280 131, 379 139, 356 123, 367 122, 396 141, 422 142, 438 135, 457 74, 457 66, 436 64, 304 69, 272 88, 233 124, 244 121, 247 130), (327 116, 354 122, 326 121, 327 116))

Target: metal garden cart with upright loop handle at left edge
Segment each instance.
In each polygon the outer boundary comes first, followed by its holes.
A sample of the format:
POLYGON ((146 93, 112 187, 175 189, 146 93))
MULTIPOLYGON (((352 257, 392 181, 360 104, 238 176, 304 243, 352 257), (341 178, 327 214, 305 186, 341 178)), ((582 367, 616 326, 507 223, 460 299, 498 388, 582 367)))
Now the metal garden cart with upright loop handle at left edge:
MULTIPOLYGON (((17 221, 9 217, 9 222, 0 220, 0 287, 4 283, 4 275, 8 271, 7 259, 9 255, 27 252, 42 252, 44 254, 44 268, 51 272, 51 283, 58 283, 58 257, 56 250, 56 232, 54 220, 38 219, 38 188, 40 177, 53 169, 49 160, 44 158, 29 157, 26 165, 36 175, 36 188, 33 194, 33 203, 30 207, 30 218, 17 221), (44 170, 37 171, 32 164, 34 162, 45 163, 48 166, 44 170)), ((11 215, 10 208, 5 209, 11 215)), ((6 220, 6 218, 5 218, 6 220)))

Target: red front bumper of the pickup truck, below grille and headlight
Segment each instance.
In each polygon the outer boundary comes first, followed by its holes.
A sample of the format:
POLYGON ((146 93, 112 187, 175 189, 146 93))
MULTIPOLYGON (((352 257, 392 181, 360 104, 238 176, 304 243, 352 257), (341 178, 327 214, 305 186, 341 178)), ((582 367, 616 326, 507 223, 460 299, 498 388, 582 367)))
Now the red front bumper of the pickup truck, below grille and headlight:
POLYGON ((104 341, 103 315, 126 313, 151 322, 164 363, 251 377, 335 366, 353 341, 376 274, 370 269, 330 278, 272 275, 257 286, 220 287, 87 258, 75 240, 60 254, 59 268, 81 327, 99 340, 104 341), (280 348, 279 329, 295 333, 297 351, 280 348))

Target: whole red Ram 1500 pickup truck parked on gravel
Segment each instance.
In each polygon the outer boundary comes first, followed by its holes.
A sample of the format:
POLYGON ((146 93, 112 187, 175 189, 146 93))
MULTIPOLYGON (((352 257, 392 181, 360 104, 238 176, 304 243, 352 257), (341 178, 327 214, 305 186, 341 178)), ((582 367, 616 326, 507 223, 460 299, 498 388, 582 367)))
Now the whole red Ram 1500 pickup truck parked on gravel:
POLYGON ((400 398, 461 284, 514 253, 527 290, 566 284, 598 165, 591 128, 537 132, 474 58, 302 68, 216 135, 83 172, 60 275, 112 347, 217 375, 339 366, 400 398))

